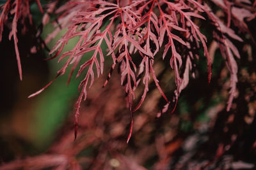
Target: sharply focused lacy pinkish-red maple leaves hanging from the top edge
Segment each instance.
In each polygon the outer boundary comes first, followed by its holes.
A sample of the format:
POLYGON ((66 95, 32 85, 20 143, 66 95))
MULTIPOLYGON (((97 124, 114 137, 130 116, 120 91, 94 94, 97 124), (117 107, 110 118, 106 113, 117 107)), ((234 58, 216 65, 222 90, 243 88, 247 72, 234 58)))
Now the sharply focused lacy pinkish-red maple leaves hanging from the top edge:
MULTIPOLYGON (((10 38, 13 36, 14 39, 20 79, 22 79, 22 73, 17 46, 17 21, 19 18, 22 20, 22 18, 29 15, 29 3, 31 3, 29 0, 8 0, 1 6, 1 34, 3 32, 3 24, 8 20, 8 15, 10 13, 14 15, 10 38)), ((42 10, 40 1, 37 0, 36 3, 42 10)), ((42 21, 43 25, 48 22, 49 13, 55 13, 59 16, 56 29, 45 39, 45 43, 54 38, 61 29, 67 27, 67 32, 58 40, 50 52, 50 55, 52 55, 50 59, 55 57, 59 57, 58 61, 66 59, 56 78, 65 74, 69 66, 72 69, 68 82, 77 67, 79 67, 79 71, 76 77, 81 76, 84 72, 86 73, 79 85, 81 94, 76 103, 75 138, 81 102, 86 99, 87 90, 92 87, 95 74, 99 77, 103 73, 104 60, 108 58, 113 60, 113 65, 104 87, 107 85, 109 78, 111 78, 113 69, 118 66, 121 84, 127 94, 127 104, 131 112, 131 130, 127 142, 132 133, 132 113, 138 110, 143 101, 145 101, 148 82, 151 79, 166 101, 161 113, 175 110, 180 92, 188 85, 189 75, 195 76, 193 61, 199 59, 200 51, 203 51, 204 57, 207 59, 208 79, 210 82, 213 55, 212 57, 209 55, 207 38, 200 30, 200 23, 203 20, 211 22, 212 36, 220 48, 230 72, 230 97, 227 104, 227 110, 230 110, 236 94, 237 83, 237 63, 234 56, 238 59, 240 58, 239 51, 232 41, 243 41, 230 25, 236 27, 240 32, 252 34, 244 20, 255 18, 256 1, 252 4, 249 0, 71 0, 60 7, 57 4, 58 1, 52 1, 47 4, 47 13, 45 13, 42 21), (212 5, 222 8, 227 17, 223 20, 218 16, 218 13, 214 13, 211 10, 212 5), (79 37, 79 41, 74 48, 61 54, 64 46, 74 37, 79 37), (104 43, 108 46, 106 55, 102 51, 104 43), (93 52, 93 55, 81 64, 81 59, 88 52, 93 52), (172 99, 164 94, 155 74, 154 61, 159 57, 164 62, 170 62, 170 68, 175 72, 177 90, 175 90, 175 96, 172 99), (181 67, 184 69, 180 69, 181 67), (141 94, 138 105, 134 106, 135 90, 140 84, 144 85, 143 94, 141 94), (170 103, 175 103, 174 108, 171 108, 170 103)), ((52 81, 29 97, 40 94, 42 90, 51 85, 52 81)))

